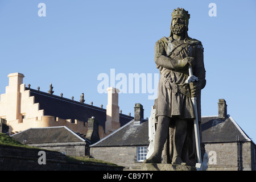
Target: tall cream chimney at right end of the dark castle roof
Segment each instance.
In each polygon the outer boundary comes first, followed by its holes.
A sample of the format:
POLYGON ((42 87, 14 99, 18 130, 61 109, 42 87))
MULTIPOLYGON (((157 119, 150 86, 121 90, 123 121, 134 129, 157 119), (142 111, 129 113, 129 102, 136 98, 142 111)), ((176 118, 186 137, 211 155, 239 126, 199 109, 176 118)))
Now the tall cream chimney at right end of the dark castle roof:
POLYGON ((119 129, 119 106, 118 106, 118 93, 119 90, 113 87, 108 89, 108 105, 106 106, 106 122, 105 133, 110 134, 119 129))

